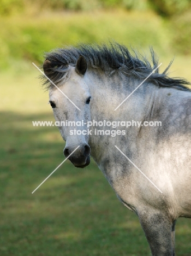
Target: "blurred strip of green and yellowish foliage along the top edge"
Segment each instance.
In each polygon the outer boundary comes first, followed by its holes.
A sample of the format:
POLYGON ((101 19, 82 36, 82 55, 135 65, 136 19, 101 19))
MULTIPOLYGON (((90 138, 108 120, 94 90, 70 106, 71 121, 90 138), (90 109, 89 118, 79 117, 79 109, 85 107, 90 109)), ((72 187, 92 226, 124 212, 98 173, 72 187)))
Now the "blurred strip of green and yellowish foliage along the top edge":
POLYGON ((128 10, 154 9, 160 15, 180 14, 191 6, 191 0, 1 0, 0 14, 10 15, 14 11, 37 10, 93 10, 125 8, 128 10))

